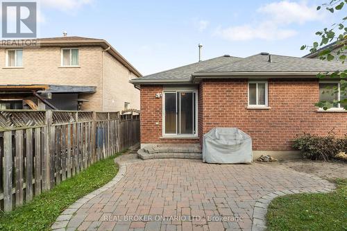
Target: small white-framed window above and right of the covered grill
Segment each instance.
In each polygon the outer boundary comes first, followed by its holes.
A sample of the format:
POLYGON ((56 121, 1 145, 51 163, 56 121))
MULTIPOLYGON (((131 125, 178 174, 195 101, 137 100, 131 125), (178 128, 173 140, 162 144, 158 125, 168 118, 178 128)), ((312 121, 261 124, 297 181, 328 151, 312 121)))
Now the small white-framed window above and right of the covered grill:
POLYGON ((248 105, 252 107, 268 106, 267 81, 250 81, 248 83, 248 105))

